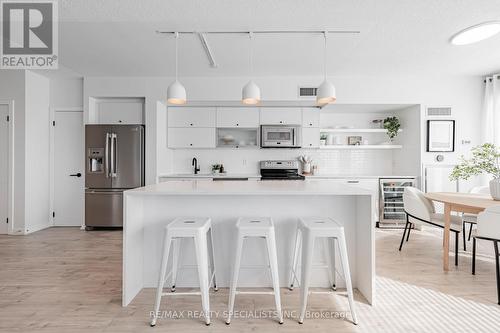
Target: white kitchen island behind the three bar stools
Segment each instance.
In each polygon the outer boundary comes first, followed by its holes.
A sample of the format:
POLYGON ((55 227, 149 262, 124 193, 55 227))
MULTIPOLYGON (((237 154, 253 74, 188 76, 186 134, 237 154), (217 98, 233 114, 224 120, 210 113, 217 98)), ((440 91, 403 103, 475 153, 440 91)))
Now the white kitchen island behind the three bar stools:
MULTIPOLYGON (((217 285, 231 276, 238 217, 269 216, 276 228, 279 277, 288 285, 298 218, 327 216, 344 225, 353 287, 372 304, 375 278, 374 214, 376 193, 356 184, 305 181, 170 181, 124 192, 123 291, 127 306, 142 288, 155 288, 164 227, 176 217, 210 217, 214 232, 217 285)), ((177 287, 197 287, 193 244, 184 241, 177 287)), ((315 261, 323 260, 316 249, 315 261)), ((269 287, 265 243, 245 241, 239 285, 269 287)), ((324 268, 313 268, 311 286, 327 287, 324 268)), ((341 272, 340 261, 337 270, 341 272)), ((337 285, 343 287, 337 273, 337 285)), ((166 286, 168 285, 168 282, 166 286)), ((153 304, 153 299, 151 299, 153 304)))

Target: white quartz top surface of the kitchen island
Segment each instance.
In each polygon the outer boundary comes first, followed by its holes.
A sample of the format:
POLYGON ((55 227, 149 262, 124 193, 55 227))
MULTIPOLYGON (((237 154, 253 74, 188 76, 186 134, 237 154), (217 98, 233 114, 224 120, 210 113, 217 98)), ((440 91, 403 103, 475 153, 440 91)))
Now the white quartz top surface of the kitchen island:
POLYGON ((169 181, 124 192, 125 195, 376 195, 356 185, 334 180, 304 181, 169 181))

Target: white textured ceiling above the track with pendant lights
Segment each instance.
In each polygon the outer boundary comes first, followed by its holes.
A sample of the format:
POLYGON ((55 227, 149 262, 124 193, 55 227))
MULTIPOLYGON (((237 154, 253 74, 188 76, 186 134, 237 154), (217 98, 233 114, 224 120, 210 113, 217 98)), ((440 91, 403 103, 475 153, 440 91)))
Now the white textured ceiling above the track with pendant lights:
MULTIPOLYGON (((486 75, 500 70, 500 35, 453 46, 468 26, 500 20, 499 0, 60 0, 60 62, 83 75, 174 74, 174 38, 155 30, 360 30, 331 35, 331 76, 486 75)), ((248 75, 248 38, 180 39, 180 76, 248 75)), ((258 35, 257 76, 320 75, 321 35, 258 35)))

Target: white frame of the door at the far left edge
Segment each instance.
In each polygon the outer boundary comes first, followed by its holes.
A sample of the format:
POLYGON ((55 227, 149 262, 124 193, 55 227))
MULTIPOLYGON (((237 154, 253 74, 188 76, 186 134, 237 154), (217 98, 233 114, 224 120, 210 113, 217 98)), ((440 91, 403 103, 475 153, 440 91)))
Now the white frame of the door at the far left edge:
POLYGON ((8 146, 8 156, 9 164, 7 167, 7 218, 9 219, 9 225, 7 226, 7 234, 14 234, 14 100, 0 99, 0 104, 7 105, 7 115, 9 116, 9 124, 7 125, 9 146, 8 146))

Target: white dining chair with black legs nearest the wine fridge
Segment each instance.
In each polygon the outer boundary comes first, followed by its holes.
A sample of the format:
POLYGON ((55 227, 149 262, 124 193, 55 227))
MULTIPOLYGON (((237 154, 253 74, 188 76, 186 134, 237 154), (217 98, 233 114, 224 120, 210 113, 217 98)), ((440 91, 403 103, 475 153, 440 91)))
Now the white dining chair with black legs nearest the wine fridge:
MULTIPOLYGON (((429 224, 444 229, 444 214, 436 213, 434 204, 424 196, 424 193, 415 187, 405 187, 403 192, 403 206, 406 213, 406 225, 399 245, 399 251, 410 238, 410 231, 414 225, 429 224), (408 233, 407 233, 408 232, 408 233)), ((458 265, 458 234, 462 232, 462 218, 451 216, 450 230, 455 233, 455 266, 458 265)))

